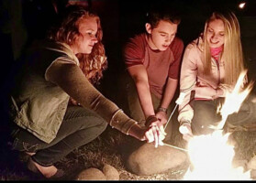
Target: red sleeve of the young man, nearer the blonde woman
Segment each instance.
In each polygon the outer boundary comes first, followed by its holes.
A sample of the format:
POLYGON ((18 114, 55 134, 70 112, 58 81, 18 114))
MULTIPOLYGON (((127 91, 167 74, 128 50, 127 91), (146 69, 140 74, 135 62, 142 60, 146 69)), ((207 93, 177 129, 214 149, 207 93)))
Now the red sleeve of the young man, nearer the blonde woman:
POLYGON ((173 63, 171 64, 169 68, 169 74, 168 76, 172 79, 178 80, 179 74, 180 74, 180 65, 181 65, 181 59, 182 54, 184 51, 184 42, 182 39, 175 37, 173 39, 172 44, 170 45, 170 48, 173 51, 173 63))

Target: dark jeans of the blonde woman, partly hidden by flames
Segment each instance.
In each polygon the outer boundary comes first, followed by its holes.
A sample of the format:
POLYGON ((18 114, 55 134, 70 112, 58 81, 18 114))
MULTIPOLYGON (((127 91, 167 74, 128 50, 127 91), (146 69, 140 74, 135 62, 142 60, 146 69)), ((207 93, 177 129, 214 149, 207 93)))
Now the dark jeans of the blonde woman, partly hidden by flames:
MULTIPOLYGON (((228 115, 224 130, 226 132, 252 130, 256 127, 256 103, 252 102, 255 96, 250 95, 240 106, 239 113, 228 115)), ((217 124, 221 115, 217 113, 219 103, 223 98, 214 101, 194 101, 194 118, 192 120, 192 131, 194 135, 206 135, 213 132, 209 124, 217 124)))

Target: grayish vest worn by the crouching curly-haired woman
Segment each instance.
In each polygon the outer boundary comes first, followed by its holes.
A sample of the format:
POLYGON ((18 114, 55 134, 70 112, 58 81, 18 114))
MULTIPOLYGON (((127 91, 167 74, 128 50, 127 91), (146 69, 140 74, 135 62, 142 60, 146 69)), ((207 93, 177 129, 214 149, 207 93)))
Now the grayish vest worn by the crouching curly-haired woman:
POLYGON ((70 97, 58 85, 47 81, 45 72, 56 59, 77 65, 79 62, 66 44, 44 42, 38 45, 17 75, 10 113, 17 125, 50 143, 61 126, 70 97))

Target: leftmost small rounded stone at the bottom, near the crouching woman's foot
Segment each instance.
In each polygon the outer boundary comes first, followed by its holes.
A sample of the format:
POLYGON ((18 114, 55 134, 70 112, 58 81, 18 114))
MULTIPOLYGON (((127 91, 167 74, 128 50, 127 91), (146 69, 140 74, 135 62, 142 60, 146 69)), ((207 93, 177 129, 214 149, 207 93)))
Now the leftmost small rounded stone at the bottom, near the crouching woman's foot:
POLYGON ((76 178, 77 180, 106 180, 106 176, 104 173, 95 168, 91 167, 88 169, 84 169, 76 178))

